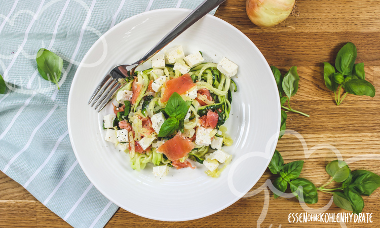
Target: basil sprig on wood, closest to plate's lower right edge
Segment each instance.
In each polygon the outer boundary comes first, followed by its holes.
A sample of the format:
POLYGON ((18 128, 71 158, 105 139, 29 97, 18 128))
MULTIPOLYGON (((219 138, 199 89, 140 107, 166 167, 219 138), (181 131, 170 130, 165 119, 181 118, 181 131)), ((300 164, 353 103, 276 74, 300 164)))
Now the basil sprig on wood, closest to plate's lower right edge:
MULTIPOLYGON (((302 202, 308 204, 315 204, 318 202, 318 192, 315 185, 305 178, 299 178, 303 167, 303 161, 294 161, 284 165, 284 161, 278 150, 275 150, 275 154, 269 164, 269 170, 273 174, 279 174, 273 181, 273 185, 281 192, 285 192, 288 183, 293 195, 302 202), (302 190, 299 186, 302 186, 302 190)), ((274 195, 275 199, 279 196, 274 195)))

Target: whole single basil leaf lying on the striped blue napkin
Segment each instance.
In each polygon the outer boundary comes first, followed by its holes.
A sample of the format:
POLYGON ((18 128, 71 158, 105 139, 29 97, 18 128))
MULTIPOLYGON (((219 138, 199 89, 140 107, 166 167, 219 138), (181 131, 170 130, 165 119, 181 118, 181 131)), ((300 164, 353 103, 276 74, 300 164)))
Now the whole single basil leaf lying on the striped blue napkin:
POLYGON ((63 60, 53 52, 41 48, 36 56, 37 69, 43 79, 55 83, 59 89, 58 82, 61 79, 63 60))

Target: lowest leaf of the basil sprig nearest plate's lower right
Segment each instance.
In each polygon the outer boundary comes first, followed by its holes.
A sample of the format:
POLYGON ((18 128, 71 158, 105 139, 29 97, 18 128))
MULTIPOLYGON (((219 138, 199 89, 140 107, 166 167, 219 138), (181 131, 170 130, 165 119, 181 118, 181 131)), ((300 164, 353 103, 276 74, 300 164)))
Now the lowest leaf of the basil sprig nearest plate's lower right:
POLYGON ((309 180, 305 178, 297 178, 292 180, 289 184, 293 195, 298 200, 308 204, 315 204, 318 202, 317 188, 309 180), (302 191, 299 186, 302 186, 302 191))

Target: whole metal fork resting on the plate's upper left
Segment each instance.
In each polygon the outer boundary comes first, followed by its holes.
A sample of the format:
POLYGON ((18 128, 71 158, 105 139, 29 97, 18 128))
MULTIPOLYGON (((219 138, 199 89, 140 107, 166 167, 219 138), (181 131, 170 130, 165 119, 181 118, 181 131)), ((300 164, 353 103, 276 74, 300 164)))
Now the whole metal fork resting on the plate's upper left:
MULTIPOLYGON (((178 35, 185 31, 188 27, 192 26, 195 22, 208 14, 211 10, 225 2, 225 0, 205 0, 193 12, 191 12, 185 19, 183 19, 175 28, 173 28, 155 47, 150 49, 141 59, 132 64, 122 64, 113 67, 103 80, 96 87, 88 104, 91 107, 97 103, 95 110, 100 107, 101 111, 112 100, 116 91, 121 87, 119 79, 125 79, 132 75, 135 69, 153 57, 157 52, 161 51, 166 45, 172 42, 178 35), (130 70, 127 67, 132 67, 130 70)), ((99 112, 98 111, 98 112, 99 112)))

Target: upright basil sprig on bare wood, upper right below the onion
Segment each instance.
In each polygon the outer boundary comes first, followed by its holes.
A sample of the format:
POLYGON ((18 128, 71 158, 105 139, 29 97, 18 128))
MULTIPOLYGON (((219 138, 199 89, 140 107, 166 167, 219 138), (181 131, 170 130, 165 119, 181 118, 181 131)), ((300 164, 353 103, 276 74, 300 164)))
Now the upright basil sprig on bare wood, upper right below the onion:
POLYGON ((336 55, 335 68, 328 62, 324 62, 323 78, 326 87, 334 92, 336 105, 339 105, 351 93, 358 96, 375 96, 375 88, 365 80, 364 63, 355 64, 357 52, 353 43, 349 42, 341 48, 336 55), (339 90, 336 94, 336 90, 339 90), (341 88, 346 93, 340 97, 341 88))

